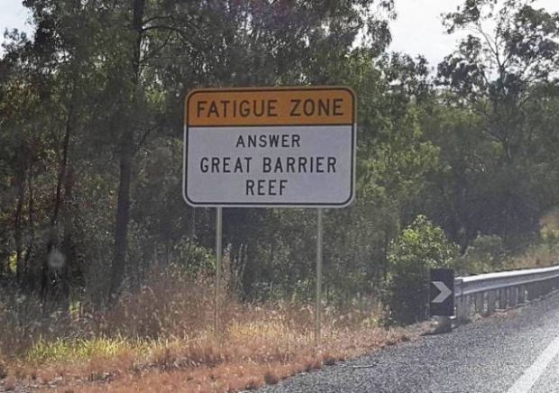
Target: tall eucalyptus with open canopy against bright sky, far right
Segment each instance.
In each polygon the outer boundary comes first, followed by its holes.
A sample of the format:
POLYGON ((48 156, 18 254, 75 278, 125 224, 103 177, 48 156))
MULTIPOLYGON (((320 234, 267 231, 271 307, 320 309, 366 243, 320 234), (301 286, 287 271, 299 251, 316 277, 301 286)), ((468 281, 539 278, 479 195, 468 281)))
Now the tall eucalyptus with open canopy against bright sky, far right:
POLYGON ((454 233, 468 239, 496 233, 511 244, 535 233, 542 211, 557 203, 542 192, 551 169, 542 141, 556 131, 537 119, 552 115, 547 103, 557 99, 559 14, 534 4, 467 0, 444 16, 447 32, 468 32, 438 66, 438 83, 452 92, 444 105, 462 107, 474 125, 463 133, 478 138, 477 152, 451 161, 462 180, 447 188, 459 220, 454 233))

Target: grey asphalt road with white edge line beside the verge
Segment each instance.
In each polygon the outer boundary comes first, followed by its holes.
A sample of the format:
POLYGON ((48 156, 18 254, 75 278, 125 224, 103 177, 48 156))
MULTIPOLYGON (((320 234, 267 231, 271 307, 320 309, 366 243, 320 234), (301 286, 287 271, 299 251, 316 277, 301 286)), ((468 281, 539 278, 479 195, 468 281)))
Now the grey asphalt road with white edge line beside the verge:
POLYGON ((558 337, 559 294, 554 294, 506 316, 388 347, 260 391, 559 393, 558 337))

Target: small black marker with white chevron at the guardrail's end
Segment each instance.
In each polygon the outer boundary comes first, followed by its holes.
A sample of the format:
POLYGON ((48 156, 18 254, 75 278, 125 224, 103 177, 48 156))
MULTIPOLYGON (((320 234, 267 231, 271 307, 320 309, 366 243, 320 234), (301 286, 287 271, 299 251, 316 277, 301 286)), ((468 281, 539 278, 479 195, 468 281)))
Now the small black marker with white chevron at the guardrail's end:
POLYGON ((454 315, 454 270, 431 269, 431 315, 454 315))

